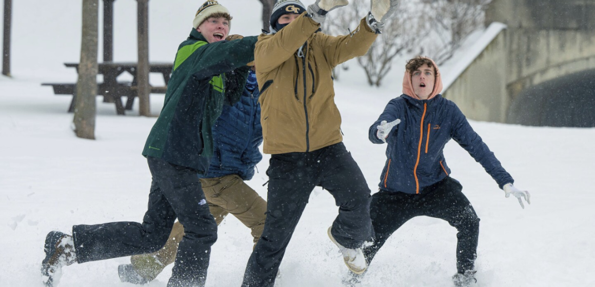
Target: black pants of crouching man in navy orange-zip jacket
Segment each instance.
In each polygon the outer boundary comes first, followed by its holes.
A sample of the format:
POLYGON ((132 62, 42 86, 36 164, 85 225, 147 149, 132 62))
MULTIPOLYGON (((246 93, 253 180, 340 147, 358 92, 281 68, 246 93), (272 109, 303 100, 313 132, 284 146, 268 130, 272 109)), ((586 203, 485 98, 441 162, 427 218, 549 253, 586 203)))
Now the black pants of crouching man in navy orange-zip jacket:
POLYGON ((372 195, 370 216, 376 239, 371 247, 364 249, 368 263, 407 220, 430 216, 446 220, 456 228, 456 269, 458 273, 472 270, 477 257, 480 219, 461 190, 458 181, 447 177, 419 194, 379 191, 372 195))

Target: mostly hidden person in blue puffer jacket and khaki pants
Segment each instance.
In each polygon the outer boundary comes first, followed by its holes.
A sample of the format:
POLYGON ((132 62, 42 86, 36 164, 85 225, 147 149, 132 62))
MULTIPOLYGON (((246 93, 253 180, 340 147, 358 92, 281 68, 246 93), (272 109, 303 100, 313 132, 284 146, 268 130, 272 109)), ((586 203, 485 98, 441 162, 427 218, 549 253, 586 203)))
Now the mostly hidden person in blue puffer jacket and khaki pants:
MULTIPOLYGON (((262 143, 261 108, 254 67, 248 74, 240 101, 223 106, 221 116, 212 127, 213 157, 206 175, 199 175, 206 202, 219 225, 231 213, 250 228, 256 244, 264 228, 267 201, 244 181, 252 179, 262 159, 258 147, 262 143)), ((122 282, 145 284, 174 263, 184 228, 174 224, 167 244, 152 254, 132 256, 131 264, 118 267, 122 282)))

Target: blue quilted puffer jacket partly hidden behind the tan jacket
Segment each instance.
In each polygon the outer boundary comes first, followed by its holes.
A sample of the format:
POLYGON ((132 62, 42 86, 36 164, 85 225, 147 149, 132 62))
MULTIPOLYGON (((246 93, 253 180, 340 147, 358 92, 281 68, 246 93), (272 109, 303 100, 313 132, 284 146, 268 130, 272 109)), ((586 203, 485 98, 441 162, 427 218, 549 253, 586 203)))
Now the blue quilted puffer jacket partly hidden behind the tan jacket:
POLYGON ((223 106, 221 116, 212 127, 214 150, 211 165, 208 173, 201 177, 237 174, 247 181, 254 176, 254 167, 262 159, 258 150, 262 143, 258 96, 258 87, 254 92, 244 89, 239 102, 223 106))

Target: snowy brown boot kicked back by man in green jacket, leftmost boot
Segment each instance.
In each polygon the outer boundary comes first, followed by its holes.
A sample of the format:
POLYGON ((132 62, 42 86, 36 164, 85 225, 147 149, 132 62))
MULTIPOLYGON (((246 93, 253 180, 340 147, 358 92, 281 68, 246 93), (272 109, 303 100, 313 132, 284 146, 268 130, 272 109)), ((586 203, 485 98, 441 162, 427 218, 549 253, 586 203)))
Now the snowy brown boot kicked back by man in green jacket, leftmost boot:
POLYGON ((41 263, 43 285, 58 286, 62 276, 62 267, 76 262, 73 236, 60 231, 52 231, 45 238, 45 258, 41 263))

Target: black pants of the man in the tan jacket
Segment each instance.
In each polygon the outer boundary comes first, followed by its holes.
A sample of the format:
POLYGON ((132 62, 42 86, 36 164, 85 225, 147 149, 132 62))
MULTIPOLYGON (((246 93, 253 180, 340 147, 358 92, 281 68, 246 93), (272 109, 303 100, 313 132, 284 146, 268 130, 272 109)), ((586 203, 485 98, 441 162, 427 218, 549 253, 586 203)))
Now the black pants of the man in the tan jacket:
POLYGON ((308 153, 273 154, 267 174, 267 220, 242 286, 273 286, 285 248, 316 186, 328 190, 339 206, 331 229, 337 242, 358 248, 371 241, 370 190, 343 143, 308 153))

